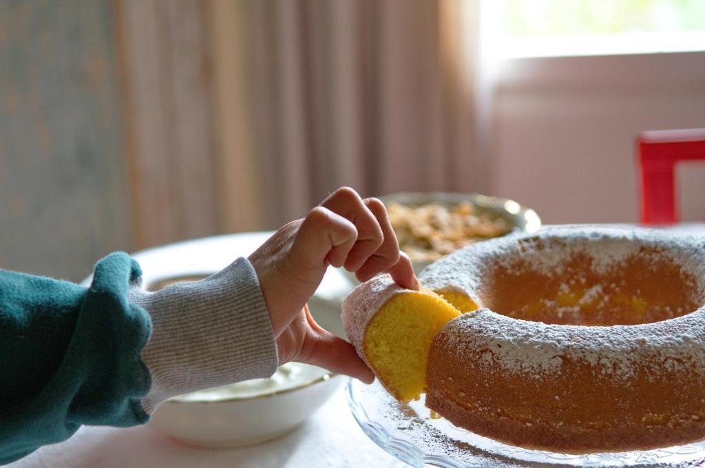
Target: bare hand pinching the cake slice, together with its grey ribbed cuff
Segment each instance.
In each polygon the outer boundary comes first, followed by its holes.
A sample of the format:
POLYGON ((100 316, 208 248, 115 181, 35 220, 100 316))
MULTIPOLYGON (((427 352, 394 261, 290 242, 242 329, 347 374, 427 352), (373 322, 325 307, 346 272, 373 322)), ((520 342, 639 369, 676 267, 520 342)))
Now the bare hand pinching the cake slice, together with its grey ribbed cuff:
POLYGON ((344 265, 363 281, 389 271, 400 285, 418 288, 384 205, 342 188, 249 259, 157 293, 130 290, 130 301, 154 324, 142 350, 152 376, 141 400, 145 411, 173 395, 269 376, 289 361, 371 382, 372 371, 353 346, 318 326, 305 308, 329 264, 344 265))

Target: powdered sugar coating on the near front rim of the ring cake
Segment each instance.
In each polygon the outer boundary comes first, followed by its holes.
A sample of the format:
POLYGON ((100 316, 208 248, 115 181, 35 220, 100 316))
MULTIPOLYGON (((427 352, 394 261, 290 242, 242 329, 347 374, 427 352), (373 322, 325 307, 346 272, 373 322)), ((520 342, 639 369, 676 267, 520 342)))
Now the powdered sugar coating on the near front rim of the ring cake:
POLYGON ((626 381, 637 369, 705 369, 705 308, 656 324, 591 327, 547 325, 479 309, 448 322, 440 334, 446 350, 461 359, 481 355, 488 370, 529 377, 560 374, 564 359, 626 381))

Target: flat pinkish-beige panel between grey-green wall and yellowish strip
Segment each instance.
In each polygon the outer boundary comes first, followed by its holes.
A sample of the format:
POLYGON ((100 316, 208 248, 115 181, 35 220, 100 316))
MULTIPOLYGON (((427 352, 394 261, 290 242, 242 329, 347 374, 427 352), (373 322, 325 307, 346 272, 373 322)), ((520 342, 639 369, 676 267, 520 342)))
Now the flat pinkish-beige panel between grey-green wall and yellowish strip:
POLYGON ((221 227, 207 10, 114 0, 135 247, 221 227))

